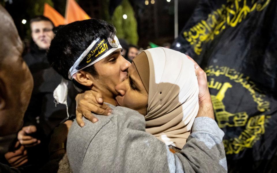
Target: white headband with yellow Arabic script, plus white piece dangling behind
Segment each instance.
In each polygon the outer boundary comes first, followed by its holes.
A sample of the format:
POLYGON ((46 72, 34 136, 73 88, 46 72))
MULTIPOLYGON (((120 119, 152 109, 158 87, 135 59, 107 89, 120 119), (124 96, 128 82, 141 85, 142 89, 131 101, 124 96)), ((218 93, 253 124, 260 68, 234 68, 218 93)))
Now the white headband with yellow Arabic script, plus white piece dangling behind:
MULTIPOLYGON (((112 52, 121 49, 118 38, 97 38, 94 40, 89 47, 80 55, 80 57, 75 61, 74 65, 68 71, 68 78, 73 79, 73 75, 87 68, 98 61, 106 58, 112 52)), ((55 98, 54 102, 66 105, 67 116, 68 105, 67 105, 67 94, 68 94, 68 81, 64 78, 61 79, 61 83, 55 89, 53 96, 55 98)), ((77 87, 75 87, 77 89, 77 87)), ((78 90, 78 89, 77 89, 78 90)))

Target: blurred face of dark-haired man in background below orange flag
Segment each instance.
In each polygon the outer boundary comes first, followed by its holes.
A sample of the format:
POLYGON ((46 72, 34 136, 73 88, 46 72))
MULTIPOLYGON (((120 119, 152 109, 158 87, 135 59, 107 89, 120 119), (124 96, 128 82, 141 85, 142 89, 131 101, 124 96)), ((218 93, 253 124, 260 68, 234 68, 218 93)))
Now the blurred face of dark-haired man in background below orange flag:
POLYGON ((51 40, 54 37, 53 25, 51 22, 41 20, 31 23, 32 38, 40 49, 48 50, 51 40))

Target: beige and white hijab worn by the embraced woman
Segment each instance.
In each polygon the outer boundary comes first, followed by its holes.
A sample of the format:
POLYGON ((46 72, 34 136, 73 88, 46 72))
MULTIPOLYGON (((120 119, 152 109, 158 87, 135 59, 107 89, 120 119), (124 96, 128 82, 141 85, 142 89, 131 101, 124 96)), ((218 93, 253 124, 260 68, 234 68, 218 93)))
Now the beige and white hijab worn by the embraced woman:
POLYGON ((199 108, 194 64, 185 54, 162 47, 144 50, 133 62, 148 92, 146 131, 183 148, 199 108), (148 63, 141 61, 146 57, 148 63))

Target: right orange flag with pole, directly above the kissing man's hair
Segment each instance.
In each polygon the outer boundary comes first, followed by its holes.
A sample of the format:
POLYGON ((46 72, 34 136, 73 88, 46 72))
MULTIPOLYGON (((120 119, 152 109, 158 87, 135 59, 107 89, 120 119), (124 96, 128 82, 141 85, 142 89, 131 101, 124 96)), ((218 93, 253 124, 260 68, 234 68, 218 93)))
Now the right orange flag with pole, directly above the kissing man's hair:
POLYGON ((67 0, 65 7, 65 21, 67 23, 90 19, 89 15, 74 0, 67 0))

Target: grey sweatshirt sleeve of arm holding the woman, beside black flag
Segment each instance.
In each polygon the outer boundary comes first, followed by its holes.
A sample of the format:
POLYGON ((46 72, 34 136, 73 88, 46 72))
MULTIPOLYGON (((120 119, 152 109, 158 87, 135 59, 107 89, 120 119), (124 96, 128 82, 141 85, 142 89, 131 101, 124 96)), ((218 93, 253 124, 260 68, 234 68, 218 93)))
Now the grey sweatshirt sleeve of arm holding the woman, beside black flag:
POLYGON ((187 143, 181 153, 175 153, 184 172, 227 172, 223 136, 216 121, 208 117, 196 118, 187 143))

